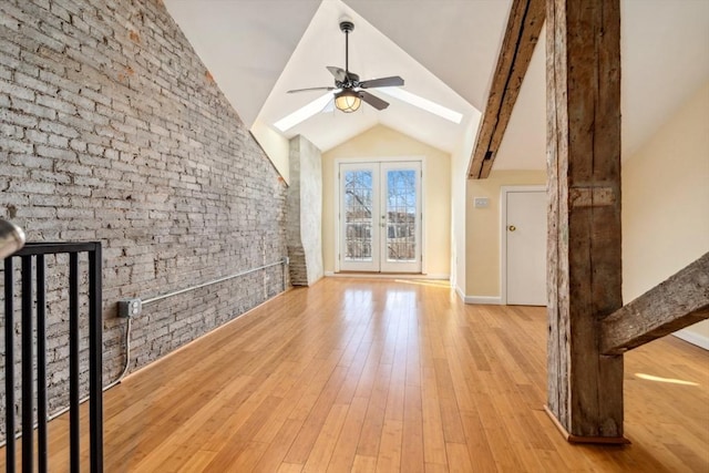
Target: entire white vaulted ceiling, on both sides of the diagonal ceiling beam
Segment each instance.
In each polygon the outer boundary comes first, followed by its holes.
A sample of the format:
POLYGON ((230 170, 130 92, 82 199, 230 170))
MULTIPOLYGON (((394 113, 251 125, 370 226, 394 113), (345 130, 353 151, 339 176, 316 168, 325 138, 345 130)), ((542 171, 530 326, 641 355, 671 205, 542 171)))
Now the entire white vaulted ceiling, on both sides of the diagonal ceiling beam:
MULTIPOLYGON (((361 79, 401 75, 404 90, 463 113, 460 125, 383 94, 378 112, 318 114, 285 133, 320 150, 383 124, 444 151, 477 126, 504 34, 511 0, 164 0, 177 24, 247 126, 266 124, 331 85, 327 65, 345 65, 339 21, 354 22, 350 70, 361 79)), ((624 155, 640 146, 709 80, 708 0, 621 0, 624 155)), ((495 168, 543 168, 544 37, 495 168)), ((377 94, 377 91, 372 91, 377 94)))

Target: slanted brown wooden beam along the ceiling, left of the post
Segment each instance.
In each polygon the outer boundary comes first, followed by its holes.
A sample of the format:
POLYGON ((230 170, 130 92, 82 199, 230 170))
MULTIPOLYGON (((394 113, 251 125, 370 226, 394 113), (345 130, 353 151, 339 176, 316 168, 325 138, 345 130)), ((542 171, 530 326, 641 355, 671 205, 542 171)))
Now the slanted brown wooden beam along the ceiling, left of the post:
POLYGON ((520 95, 532 53, 544 24, 544 0, 513 0, 497 58, 487 105, 477 128, 467 176, 486 178, 520 95))

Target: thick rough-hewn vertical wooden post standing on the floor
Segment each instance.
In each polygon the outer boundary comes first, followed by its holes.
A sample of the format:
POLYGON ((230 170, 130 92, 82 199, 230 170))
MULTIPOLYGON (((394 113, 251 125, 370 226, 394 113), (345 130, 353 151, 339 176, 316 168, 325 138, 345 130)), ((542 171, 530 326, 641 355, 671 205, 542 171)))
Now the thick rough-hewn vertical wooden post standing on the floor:
POLYGON ((620 443, 619 0, 547 0, 548 405, 572 442, 620 443))

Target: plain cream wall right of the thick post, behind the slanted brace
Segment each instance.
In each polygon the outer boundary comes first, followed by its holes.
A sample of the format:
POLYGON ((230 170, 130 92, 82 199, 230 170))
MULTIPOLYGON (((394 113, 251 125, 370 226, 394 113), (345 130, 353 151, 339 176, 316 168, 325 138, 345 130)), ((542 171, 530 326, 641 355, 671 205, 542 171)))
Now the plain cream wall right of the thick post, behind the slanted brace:
MULTIPOLYGON (((709 82, 623 163, 623 298, 709 251, 709 82)), ((709 321, 681 331, 709 349, 709 321)))

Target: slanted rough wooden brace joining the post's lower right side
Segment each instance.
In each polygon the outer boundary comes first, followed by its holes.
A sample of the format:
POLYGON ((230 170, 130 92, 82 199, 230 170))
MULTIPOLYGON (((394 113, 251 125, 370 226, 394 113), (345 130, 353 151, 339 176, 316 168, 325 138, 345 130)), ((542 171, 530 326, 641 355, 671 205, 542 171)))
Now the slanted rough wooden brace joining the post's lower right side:
POLYGON ((602 322, 600 351, 620 354, 709 318, 709 253, 602 322))

